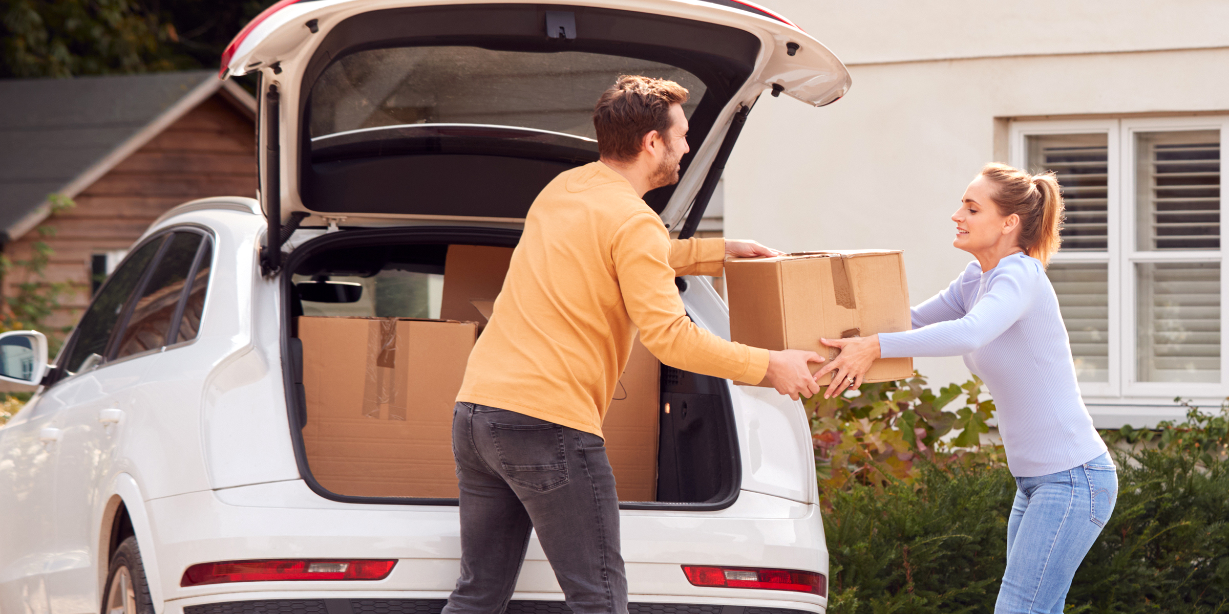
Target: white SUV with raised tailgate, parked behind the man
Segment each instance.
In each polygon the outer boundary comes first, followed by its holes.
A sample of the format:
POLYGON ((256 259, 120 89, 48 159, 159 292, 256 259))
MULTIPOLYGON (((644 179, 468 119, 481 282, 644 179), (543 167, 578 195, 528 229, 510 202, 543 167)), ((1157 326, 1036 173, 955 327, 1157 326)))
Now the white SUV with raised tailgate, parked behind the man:
MULTIPOLYGON (((456 500, 371 488, 426 464, 364 463, 447 442, 387 421, 305 445, 337 409, 312 391, 355 382, 304 368, 336 356, 305 348, 301 318, 439 319, 452 254, 509 252, 538 190, 597 158, 590 113, 621 74, 692 93, 682 179, 646 195, 685 237, 763 91, 822 106, 849 86, 822 44, 740 0, 283 0, 224 55, 224 77, 251 71, 263 198, 155 221, 54 365, 38 333, 0 335, 0 377, 41 384, 0 430, 0 612, 438 613, 456 500)), ((678 287, 729 335, 705 279, 678 287)), ((638 459, 655 478, 621 503, 632 612, 823 612, 801 405, 653 372, 655 453, 638 459)), ((532 542, 508 612, 567 610, 532 542)))

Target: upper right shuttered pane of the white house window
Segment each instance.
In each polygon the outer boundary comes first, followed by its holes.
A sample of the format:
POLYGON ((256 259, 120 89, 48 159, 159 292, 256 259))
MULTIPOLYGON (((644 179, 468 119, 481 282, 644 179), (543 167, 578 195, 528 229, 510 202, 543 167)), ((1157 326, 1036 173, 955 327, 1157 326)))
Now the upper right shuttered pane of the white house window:
POLYGON ((1138 248, 1220 248, 1220 131, 1136 135, 1138 248))

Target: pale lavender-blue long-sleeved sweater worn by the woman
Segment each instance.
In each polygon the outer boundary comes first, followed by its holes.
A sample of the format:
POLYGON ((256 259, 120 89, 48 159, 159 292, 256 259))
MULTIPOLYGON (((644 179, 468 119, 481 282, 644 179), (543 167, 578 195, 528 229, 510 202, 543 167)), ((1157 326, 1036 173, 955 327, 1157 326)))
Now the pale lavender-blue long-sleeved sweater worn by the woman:
POLYGON ((1016 253, 982 273, 973 260, 912 314, 913 330, 879 334, 880 352, 964 355, 994 397, 1013 475, 1048 475, 1105 453, 1080 398, 1058 297, 1041 262, 1016 253))

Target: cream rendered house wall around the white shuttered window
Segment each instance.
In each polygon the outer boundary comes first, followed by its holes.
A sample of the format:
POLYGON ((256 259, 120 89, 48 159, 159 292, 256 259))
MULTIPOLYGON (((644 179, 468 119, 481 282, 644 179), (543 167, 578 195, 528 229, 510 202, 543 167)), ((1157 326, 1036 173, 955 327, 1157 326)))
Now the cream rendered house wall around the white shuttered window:
MULTIPOLYGON (((1225 2, 758 1, 825 42, 853 86, 823 108, 761 97, 725 171, 726 236, 905 249, 914 305, 971 259, 949 216, 982 165, 1007 161, 1011 118, 1229 112, 1225 2)), ((968 377, 959 357, 916 365, 935 386, 968 377)), ((1181 414, 1093 402, 1102 426, 1181 414)))

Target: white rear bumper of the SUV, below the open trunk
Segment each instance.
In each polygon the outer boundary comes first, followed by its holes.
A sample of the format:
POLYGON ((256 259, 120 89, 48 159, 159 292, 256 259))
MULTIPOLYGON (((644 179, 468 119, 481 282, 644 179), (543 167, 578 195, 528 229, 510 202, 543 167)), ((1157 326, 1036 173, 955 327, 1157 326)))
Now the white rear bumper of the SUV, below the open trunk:
MULTIPOLYGON (((165 602, 168 613, 240 614, 256 607, 240 602, 290 599, 334 603, 336 612, 326 608, 324 614, 367 614, 353 603, 339 605, 333 596, 387 602, 381 605, 385 609, 393 608, 388 605, 392 602, 414 602, 413 608, 423 608, 422 603, 446 598, 456 585, 461 543, 454 506, 342 503, 315 495, 299 480, 242 490, 189 492, 145 503, 157 561, 156 570, 147 569, 149 580, 160 588, 155 599, 165 602), (179 586, 190 565, 243 559, 390 559, 397 565, 379 581, 179 586), (230 605, 216 605, 222 608, 216 613, 188 609, 219 603, 230 605)), ((732 506, 720 511, 624 510, 621 516, 623 559, 635 603, 677 604, 672 608, 686 614, 732 613, 678 608, 707 604, 816 613, 827 605, 823 597, 807 593, 692 586, 681 569, 685 564, 773 567, 826 576, 828 559, 817 506, 742 491, 732 506)), ((563 607, 559 585, 536 538, 531 539, 515 598, 563 607)), ((310 614, 299 612, 299 605, 286 607, 291 608, 289 614, 310 614)), ((268 612, 283 612, 280 608, 269 605, 268 612)), ((399 612, 381 609, 377 614, 399 612)), ((434 610, 422 610, 429 612, 434 610)))

